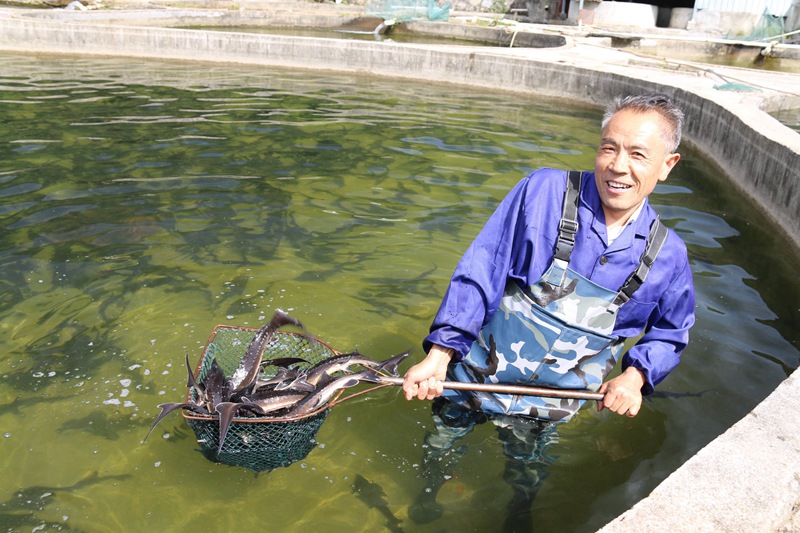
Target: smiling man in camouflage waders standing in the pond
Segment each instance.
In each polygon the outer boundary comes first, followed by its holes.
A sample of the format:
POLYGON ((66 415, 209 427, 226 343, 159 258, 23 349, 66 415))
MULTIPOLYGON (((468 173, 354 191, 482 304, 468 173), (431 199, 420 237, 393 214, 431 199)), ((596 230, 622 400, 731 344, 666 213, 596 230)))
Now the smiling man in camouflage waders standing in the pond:
MULTIPOLYGON (((603 118, 594 173, 542 169, 506 196, 459 262, 424 341, 427 356, 403 383, 409 400, 437 399, 440 433, 459 436, 486 415, 501 427, 517 423, 509 416, 535 422, 530 431, 548 435, 548 423, 569 420, 582 404, 444 391, 445 379, 597 390, 598 410, 634 417, 642 395, 675 368, 694 323, 691 269, 684 243, 647 198, 680 159, 682 125, 666 96, 617 99, 603 118), (604 381, 623 341, 639 335, 621 374, 604 381)), ((438 438, 439 449, 451 440, 438 438)), ((539 445, 527 457, 540 457, 539 445)))

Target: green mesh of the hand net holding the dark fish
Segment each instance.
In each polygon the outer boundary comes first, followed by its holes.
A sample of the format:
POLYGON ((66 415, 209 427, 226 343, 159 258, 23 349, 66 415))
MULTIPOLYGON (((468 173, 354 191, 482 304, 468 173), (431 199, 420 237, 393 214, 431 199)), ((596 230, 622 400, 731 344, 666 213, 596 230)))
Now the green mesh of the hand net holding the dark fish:
MULTIPOLYGON (((245 355, 250 341, 258 330, 235 326, 217 326, 203 350, 196 378, 202 380, 214 359, 225 376, 230 378, 245 355)), ((264 360, 298 357, 308 368, 324 359, 337 355, 326 343, 298 333, 277 332, 264 349, 264 360)), ((262 373, 265 379, 274 373, 270 368, 262 373)), ((187 402, 195 400, 190 391, 187 402)), ((267 417, 236 417, 231 423, 222 449, 219 448, 219 418, 183 411, 183 416, 194 430, 200 451, 208 459, 231 466, 241 466, 254 472, 288 466, 305 458, 316 446, 315 437, 330 411, 329 406, 309 413, 302 418, 275 421, 267 417)))

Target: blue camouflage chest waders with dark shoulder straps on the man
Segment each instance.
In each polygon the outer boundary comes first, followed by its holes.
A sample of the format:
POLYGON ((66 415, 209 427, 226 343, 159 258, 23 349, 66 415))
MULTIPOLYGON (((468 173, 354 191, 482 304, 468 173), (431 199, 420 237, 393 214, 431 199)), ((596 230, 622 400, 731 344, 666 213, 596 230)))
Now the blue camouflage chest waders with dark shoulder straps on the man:
MULTIPOLYGON (((619 290, 601 287, 569 268, 578 231, 581 173, 570 172, 556 252, 528 290, 510 280, 500 306, 469 354, 449 378, 473 383, 529 384, 562 389, 600 388, 614 368, 623 340, 613 335, 619 307, 638 289, 666 240, 658 219, 639 266, 619 290)), ((490 414, 567 421, 584 400, 446 390, 444 396, 490 414)))

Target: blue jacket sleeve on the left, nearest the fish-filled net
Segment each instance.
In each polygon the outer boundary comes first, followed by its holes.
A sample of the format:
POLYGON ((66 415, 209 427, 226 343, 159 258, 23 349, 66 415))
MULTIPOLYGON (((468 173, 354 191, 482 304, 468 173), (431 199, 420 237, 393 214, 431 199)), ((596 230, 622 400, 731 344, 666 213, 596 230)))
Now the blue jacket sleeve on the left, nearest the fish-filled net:
POLYGON ((497 310, 514 258, 526 246, 515 246, 525 228, 525 196, 529 178, 520 181, 503 199, 456 267, 450 285, 423 341, 428 352, 433 344, 464 357, 483 325, 497 310))

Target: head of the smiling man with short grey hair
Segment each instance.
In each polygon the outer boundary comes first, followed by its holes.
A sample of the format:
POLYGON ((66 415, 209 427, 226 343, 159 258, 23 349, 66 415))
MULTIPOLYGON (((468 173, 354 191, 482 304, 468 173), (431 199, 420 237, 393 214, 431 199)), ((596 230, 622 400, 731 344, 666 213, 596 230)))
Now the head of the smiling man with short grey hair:
POLYGON ((618 98, 603 117, 595 181, 606 224, 625 224, 680 159, 683 112, 664 95, 618 98))

